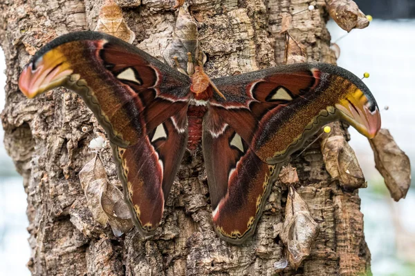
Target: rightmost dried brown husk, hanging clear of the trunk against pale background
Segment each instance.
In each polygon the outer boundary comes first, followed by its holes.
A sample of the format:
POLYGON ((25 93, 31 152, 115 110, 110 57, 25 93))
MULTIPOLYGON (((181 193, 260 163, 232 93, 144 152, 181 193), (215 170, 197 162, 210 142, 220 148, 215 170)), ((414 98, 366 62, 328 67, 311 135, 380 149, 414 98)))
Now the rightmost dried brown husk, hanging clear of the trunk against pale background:
POLYGON ((385 178, 385 184, 395 201, 405 198, 411 185, 411 164, 400 150, 389 130, 381 128, 369 143, 374 150, 376 168, 385 178))

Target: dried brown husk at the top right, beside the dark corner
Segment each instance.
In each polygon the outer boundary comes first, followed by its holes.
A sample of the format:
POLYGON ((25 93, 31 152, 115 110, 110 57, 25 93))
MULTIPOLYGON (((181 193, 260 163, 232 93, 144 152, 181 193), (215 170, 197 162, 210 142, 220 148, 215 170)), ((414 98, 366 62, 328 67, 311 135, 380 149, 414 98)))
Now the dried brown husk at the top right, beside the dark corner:
POLYGON ((358 5, 351 0, 329 0, 328 9, 331 18, 343 30, 350 32, 353 28, 366 28, 369 20, 365 14, 359 10, 358 5))

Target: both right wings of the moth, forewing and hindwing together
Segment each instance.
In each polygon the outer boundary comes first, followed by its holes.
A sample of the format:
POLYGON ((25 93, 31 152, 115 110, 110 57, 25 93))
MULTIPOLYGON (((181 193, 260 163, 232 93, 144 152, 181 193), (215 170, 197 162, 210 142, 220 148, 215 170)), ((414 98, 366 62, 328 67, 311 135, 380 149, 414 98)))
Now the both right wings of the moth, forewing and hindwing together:
POLYGON ((321 126, 348 121, 367 137, 380 128, 378 106, 350 72, 301 63, 213 79, 203 121, 203 155, 216 233, 241 244, 255 231, 270 187, 291 153, 321 126))

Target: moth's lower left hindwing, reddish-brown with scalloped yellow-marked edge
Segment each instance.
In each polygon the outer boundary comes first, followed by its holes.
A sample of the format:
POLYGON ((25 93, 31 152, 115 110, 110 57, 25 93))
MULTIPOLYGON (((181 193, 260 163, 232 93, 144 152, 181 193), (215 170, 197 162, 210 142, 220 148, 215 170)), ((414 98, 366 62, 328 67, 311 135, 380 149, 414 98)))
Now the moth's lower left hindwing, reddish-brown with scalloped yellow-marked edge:
POLYGON ((163 217, 165 200, 187 145, 186 110, 164 121, 134 146, 111 144, 124 198, 143 235, 154 233, 163 217))

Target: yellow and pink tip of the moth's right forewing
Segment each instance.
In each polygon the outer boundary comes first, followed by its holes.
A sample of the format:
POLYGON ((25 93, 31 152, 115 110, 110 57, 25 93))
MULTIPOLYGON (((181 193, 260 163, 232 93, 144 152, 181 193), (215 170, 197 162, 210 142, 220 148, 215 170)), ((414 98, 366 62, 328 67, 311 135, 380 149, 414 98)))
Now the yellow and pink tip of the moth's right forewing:
POLYGON ((372 139, 380 130, 380 112, 376 101, 369 93, 356 88, 346 95, 335 108, 340 110, 340 116, 358 132, 372 139))

